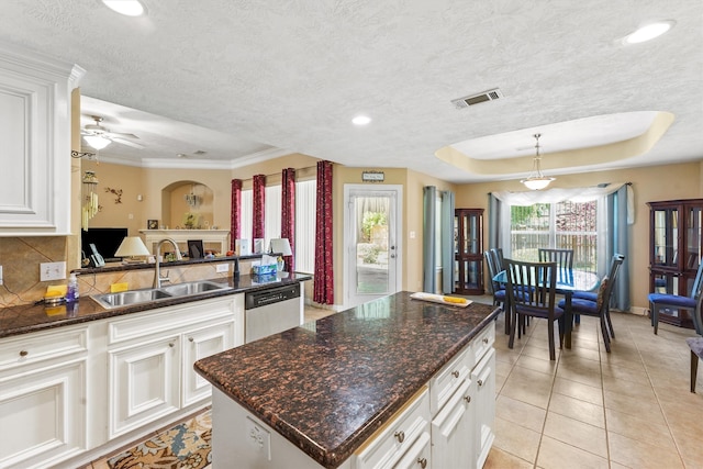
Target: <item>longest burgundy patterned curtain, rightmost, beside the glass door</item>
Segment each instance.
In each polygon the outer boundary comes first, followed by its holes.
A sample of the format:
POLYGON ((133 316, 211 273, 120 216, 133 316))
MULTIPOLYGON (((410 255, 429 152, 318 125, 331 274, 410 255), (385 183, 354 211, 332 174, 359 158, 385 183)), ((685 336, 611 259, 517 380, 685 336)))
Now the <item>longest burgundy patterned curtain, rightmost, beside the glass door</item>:
POLYGON ((334 304, 332 249, 332 163, 317 161, 317 213, 315 220, 315 276, 313 301, 334 304))

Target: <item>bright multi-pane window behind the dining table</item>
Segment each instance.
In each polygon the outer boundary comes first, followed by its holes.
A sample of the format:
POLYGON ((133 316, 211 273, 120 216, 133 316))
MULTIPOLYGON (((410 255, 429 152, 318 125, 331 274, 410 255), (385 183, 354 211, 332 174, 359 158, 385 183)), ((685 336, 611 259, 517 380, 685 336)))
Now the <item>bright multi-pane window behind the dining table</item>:
POLYGON ((573 249, 573 267, 598 272, 596 201, 511 205, 511 255, 536 261, 537 249, 573 249))

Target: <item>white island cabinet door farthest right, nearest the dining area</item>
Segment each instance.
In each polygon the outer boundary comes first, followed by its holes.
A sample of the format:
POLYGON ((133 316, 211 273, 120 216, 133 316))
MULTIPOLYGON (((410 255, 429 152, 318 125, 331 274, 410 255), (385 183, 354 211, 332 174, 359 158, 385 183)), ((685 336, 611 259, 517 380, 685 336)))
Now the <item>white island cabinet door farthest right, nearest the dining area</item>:
POLYGON ((471 380, 476 381, 476 467, 482 468, 491 445, 495 438, 493 433, 495 421, 495 349, 491 348, 471 371, 471 380))

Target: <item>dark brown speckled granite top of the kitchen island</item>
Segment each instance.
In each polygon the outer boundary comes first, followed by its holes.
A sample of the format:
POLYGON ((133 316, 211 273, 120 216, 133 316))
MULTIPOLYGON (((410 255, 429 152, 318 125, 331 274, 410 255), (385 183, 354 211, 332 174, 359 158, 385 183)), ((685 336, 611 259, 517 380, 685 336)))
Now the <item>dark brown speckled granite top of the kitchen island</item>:
POLYGON ((196 370, 336 468, 498 314, 486 304, 447 306, 410 294, 213 355, 196 370))

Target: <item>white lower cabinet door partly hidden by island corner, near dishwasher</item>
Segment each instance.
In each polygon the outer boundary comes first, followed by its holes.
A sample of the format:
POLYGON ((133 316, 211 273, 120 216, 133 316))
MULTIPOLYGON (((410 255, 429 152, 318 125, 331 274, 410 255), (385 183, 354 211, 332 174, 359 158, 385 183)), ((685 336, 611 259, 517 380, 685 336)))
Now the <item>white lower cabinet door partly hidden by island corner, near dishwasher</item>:
POLYGON ((234 347, 234 323, 225 323, 189 331, 182 336, 183 370, 181 406, 187 406, 212 394, 211 384, 193 369, 201 358, 234 347))

